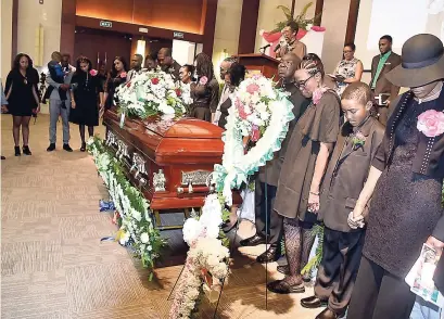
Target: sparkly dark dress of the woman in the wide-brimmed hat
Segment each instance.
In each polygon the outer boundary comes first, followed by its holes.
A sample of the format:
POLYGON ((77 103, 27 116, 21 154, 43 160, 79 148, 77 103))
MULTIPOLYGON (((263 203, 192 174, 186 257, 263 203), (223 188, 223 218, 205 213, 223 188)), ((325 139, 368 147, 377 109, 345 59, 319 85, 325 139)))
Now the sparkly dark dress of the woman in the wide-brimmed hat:
POLYGON ((428 110, 442 111, 440 100, 418 104, 411 99, 406 105, 395 128, 392 161, 382 173, 371 202, 364 255, 399 278, 411 269, 444 213, 443 179, 411 171, 421 135, 416 128, 417 118, 428 110))

